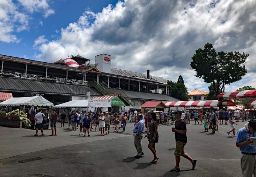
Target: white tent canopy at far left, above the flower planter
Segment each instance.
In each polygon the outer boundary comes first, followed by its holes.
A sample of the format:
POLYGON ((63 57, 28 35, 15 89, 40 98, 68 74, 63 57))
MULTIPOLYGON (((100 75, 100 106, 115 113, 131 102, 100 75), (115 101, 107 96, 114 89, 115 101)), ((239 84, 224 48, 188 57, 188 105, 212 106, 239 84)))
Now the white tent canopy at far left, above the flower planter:
POLYGON ((42 96, 15 97, 0 103, 0 106, 53 106, 53 103, 42 96))

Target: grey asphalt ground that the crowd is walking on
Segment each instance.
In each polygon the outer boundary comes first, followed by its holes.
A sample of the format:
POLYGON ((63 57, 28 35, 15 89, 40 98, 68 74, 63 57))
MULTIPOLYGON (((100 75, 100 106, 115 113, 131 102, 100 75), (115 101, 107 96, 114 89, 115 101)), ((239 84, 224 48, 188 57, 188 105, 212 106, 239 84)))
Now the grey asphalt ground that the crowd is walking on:
MULTIPOLYGON (((243 126, 244 122, 239 122, 237 129, 243 126)), ((128 124, 126 133, 113 133, 111 126, 111 134, 104 137, 99 132, 82 137, 60 125, 55 137, 34 137, 32 130, 0 127, 0 176, 240 176, 240 152, 236 139, 226 135, 228 125, 221 125, 215 135, 203 133, 203 125, 187 125, 185 151, 198 163, 196 170, 191 170, 191 163, 181 157, 181 172, 169 172, 175 165, 172 126, 159 126, 157 164, 149 163, 153 155, 147 148, 147 139, 143 139, 144 157, 133 158, 136 150, 132 127, 128 124), (32 162, 18 162, 39 157, 32 162)), ((49 135, 50 130, 45 134, 49 135)))

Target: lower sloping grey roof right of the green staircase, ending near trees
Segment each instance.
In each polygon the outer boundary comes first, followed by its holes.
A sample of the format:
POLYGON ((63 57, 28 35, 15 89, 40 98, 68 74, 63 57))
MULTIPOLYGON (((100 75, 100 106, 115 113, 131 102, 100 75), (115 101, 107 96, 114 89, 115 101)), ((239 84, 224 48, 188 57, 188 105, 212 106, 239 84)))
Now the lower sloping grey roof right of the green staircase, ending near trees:
POLYGON ((117 93, 123 94, 127 99, 135 100, 147 100, 147 101, 180 101, 172 96, 157 94, 157 93, 145 93, 139 91, 127 91, 115 89, 117 93))

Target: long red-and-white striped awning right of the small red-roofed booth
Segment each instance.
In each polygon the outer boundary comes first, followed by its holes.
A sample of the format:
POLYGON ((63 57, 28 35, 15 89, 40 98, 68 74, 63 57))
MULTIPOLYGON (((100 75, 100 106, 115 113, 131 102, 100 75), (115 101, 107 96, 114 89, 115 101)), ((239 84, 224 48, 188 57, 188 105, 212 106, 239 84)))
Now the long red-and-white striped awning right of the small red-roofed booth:
POLYGON ((207 101, 165 101, 167 107, 215 107, 218 106, 218 100, 207 101))

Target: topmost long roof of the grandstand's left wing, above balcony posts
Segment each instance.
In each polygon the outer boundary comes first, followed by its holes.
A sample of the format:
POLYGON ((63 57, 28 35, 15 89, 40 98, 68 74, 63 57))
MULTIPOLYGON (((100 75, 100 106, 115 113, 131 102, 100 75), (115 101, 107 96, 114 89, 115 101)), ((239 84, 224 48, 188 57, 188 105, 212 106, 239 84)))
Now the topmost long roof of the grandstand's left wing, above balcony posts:
POLYGON ((4 59, 5 61, 24 63, 24 64, 41 65, 43 67, 49 67, 49 68, 56 68, 56 69, 61 69, 62 68, 62 69, 65 69, 65 70, 75 71, 75 72, 83 72, 84 71, 83 69, 72 68, 72 67, 68 67, 66 65, 41 62, 41 61, 36 61, 36 60, 32 60, 32 59, 12 57, 12 56, 7 56, 7 55, 0 55, 0 59, 4 59))

